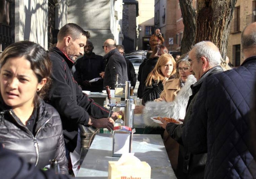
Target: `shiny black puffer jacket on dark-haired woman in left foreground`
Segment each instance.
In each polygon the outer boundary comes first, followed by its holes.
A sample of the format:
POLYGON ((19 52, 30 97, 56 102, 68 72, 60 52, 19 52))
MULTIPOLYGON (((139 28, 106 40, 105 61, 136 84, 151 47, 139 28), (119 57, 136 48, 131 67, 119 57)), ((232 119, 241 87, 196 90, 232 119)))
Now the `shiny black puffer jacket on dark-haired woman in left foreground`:
POLYGON ((50 159, 56 159, 61 173, 67 174, 68 165, 58 112, 41 100, 34 136, 14 111, 4 105, 2 99, 0 104, 0 143, 38 168, 44 168, 50 164, 50 159))

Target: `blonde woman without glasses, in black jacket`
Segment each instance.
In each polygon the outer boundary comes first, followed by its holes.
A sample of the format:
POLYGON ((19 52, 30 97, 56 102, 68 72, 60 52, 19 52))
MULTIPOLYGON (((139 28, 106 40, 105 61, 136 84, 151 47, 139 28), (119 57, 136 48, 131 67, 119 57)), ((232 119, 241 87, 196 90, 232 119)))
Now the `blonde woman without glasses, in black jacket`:
POLYGON ((176 73, 176 62, 170 54, 163 54, 157 60, 154 69, 149 73, 143 91, 144 102, 153 101, 160 97, 163 83, 176 73))

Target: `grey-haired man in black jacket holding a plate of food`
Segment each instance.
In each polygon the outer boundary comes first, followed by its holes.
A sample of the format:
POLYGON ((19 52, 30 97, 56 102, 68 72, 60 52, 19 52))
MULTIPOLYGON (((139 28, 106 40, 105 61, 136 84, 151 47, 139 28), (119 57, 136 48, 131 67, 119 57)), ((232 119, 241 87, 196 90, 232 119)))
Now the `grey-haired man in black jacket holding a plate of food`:
POLYGON ((190 67, 195 73, 197 82, 191 85, 192 95, 189 97, 186 115, 183 124, 167 123, 161 120, 163 128, 166 128, 169 135, 179 144, 179 157, 176 175, 178 178, 203 178, 206 163, 206 154, 191 155, 184 146, 186 141, 182 138, 187 120, 190 118, 191 111, 194 110, 194 102, 198 91, 205 79, 214 73, 222 72, 221 54, 219 49, 210 41, 202 41, 195 44, 194 48, 188 53, 190 67))

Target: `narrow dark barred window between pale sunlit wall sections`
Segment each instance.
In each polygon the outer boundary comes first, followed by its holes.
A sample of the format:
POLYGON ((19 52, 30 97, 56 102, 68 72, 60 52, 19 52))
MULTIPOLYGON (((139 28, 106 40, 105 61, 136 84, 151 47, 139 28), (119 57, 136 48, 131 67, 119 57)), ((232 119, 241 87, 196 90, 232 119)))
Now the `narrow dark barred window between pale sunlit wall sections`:
POLYGON ((55 29, 55 2, 48 1, 48 49, 53 45, 53 31, 55 29))

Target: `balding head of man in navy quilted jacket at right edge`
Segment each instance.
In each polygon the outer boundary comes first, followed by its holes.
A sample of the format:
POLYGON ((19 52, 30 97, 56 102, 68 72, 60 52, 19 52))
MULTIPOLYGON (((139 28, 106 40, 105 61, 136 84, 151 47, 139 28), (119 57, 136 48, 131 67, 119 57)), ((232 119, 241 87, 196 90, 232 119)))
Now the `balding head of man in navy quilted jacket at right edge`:
POLYGON ((243 30, 241 44, 245 58, 256 55, 256 22, 248 25, 243 30))

